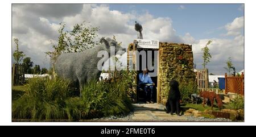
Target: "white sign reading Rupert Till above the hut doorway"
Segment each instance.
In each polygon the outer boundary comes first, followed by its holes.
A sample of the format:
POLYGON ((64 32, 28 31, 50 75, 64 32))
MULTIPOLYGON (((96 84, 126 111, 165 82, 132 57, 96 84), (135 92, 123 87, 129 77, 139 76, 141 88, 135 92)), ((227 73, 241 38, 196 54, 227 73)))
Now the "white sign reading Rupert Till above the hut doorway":
POLYGON ((137 39, 137 48, 159 48, 159 40, 137 39))

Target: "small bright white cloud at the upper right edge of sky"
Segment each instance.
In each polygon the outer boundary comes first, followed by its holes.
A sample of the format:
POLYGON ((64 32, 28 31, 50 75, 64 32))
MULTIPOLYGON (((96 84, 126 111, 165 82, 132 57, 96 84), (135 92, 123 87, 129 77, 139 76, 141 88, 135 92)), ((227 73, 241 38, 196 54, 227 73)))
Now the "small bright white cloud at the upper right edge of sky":
POLYGON ((243 16, 233 20, 232 23, 225 25, 225 29, 228 31, 225 36, 238 36, 243 31, 243 16))

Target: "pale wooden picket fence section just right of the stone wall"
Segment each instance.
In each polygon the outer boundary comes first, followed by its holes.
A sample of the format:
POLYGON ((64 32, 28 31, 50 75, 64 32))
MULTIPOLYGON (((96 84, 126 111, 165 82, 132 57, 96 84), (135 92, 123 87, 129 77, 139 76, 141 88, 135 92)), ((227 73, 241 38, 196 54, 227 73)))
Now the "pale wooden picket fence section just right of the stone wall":
POLYGON ((209 88, 208 69, 197 70, 196 79, 197 86, 200 91, 207 90, 209 88))

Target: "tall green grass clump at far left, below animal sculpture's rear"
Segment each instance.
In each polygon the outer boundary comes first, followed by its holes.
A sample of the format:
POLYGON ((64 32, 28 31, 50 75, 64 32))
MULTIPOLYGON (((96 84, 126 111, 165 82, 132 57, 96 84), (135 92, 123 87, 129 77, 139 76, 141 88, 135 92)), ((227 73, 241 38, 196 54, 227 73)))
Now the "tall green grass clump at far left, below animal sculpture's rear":
POLYGON ((13 101, 12 117, 17 119, 62 119, 69 81, 61 78, 31 78, 22 97, 13 101))

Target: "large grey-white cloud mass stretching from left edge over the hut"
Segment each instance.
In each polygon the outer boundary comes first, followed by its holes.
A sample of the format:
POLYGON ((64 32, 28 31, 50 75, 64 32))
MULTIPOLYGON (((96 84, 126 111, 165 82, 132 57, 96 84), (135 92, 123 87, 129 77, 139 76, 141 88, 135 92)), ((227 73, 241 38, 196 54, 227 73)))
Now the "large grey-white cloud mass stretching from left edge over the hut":
MULTIPOLYGON (((44 52, 51 49, 51 41, 58 37, 60 22, 71 30, 76 23, 89 22, 100 27, 99 37, 115 35, 123 47, 137 39, 135 19, 143 26, 144 39, 159 39, 183 43, 185 39, 176 35, 171 18, 155 18, 148 12, 122 13, 110 10, 109 5, 13 5, 13 36, 19 39, 20 49, 32 57, 35 64, 49 64, 44 52), (154 25, 152 25, 154 24, 154 25)), ((49 65, 46 65, 47 67, 49 65)))

